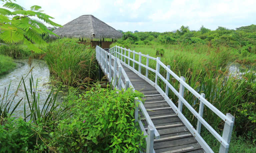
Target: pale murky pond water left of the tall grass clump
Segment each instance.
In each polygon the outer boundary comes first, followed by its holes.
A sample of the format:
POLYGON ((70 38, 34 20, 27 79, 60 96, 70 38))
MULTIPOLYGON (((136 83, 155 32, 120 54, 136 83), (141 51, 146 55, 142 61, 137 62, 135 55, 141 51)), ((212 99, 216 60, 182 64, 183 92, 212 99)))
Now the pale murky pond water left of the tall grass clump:
MULTIPOLYGON (((17 64, 16 69, 13 70, 12 72, 5 74, 5 75, 0 75, 0 103, 2 101, 4 91, 5 92, 5 98, 3 102, 6 101, 6 93, 8 90, 8 86, 10 84, 9 92, 7 99, 12 99, 14 96, 14 93, 19 85, 19 82, 23 76, 25 78, 24 82, 27 88, 27 92, 30 90, 30 83, 29 83, 29 78, 31 78, 31 73, 34 79, 34 85, 36 85, 36 80, 38 78, 38 84, 37 84, 37 93, 40 94, 40 102, 44 102, 48 96, 48 94, 51 91, 51 78, 50 78, 50 72, 48 69, 48 66, 46 65, 45 61, 43 60, 38 60, 38 59, 33 59, 32 60, 32 65, 31 67, 27 64, 28 59, 15 59, 14 62, 17 64), (31 68, 34 67, 32 70, 31 68), (30 72, 31 70, 31 72, 30 72), (29 73, 30 72, 30 73, 29 73)), ((12 106, 10 110, 17 104, 17 102, 23 98, 23 100, 20 103, 20 106, 16 108, 14 112, 14 116, 24 116, 24 101, 25 101, 25 91, 24 91, 24 85, 22 83, 21 87, 19 88, 16 97, 14 98, 14 101, 12 103, 12 106)), ((31 96, 31 94, 29 94, 31 96)), ((42 108, 42 103, 39 103, 39 108, 42 108)), ((25 103, 26 107, 26 114, 29 113, 29 106, 28 102, 26 100, 25 103)), ((40 109, 41 110, 41 109, 40 109)), ((11 111, 10 111, 11 112, 11 111)), ((10 113, 9 112, 9 113, 10 113)))

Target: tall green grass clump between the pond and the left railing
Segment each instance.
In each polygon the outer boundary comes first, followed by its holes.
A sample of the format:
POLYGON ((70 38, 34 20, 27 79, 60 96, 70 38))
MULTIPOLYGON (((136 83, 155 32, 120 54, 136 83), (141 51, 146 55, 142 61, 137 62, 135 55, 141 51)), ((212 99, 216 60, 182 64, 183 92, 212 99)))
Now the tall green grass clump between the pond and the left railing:
POLYGON ((71 39, 59 39, 45 49, 50 73, 66 85, 87 86, 97 77, 95 51, 71 39))

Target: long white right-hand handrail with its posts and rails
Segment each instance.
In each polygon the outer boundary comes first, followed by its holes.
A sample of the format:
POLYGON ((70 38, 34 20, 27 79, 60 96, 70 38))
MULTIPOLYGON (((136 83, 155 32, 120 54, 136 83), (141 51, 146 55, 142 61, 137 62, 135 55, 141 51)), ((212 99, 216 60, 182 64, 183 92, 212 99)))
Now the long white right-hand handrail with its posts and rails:
MULTIPOLYGON (((146 80, 147 82, 149 82, 151 85, 155 86, 156 89, 163 95, 163 97, 165 98, 165 100, 169 103, 169 105, 173 108, 174 112, 181 118, 182 121, 186 122, 184 123, 185 125, 188 126, 188 129, 191 133, 194 133, 194 137, 198 140, 199 144, 203 147, 203 149, 207 152, 213 152, 211 150, 211 148, 208 146, 208 144, 203 140, 203 138, 200 136, 200 132, 198 132, 198 128, 197 130, 195 130, 193 128, 193 126, 191 125, 191 123, 189 123, 189 121, 185 118, 185 116, 182 114, 182 107, 181 110, 179 110, 174 103, 171 101, 171 99, 168 97, 168 92, 163 91, 157 84, 157 81, 153 82, 151 81, 148 77, 142 75, 140 73, 139 70, 134 69, 134 63, 138 64, 139 67, 144 67, 146 68, 146 71, 150 70, 151 72, 156 74, 156 80, 157 77, 159 77, 165 84, 166 84, 166 88, 170 88, 172 90, 172 92, 174 92, 174 94, 176 96, 178 96, 179 98, 179 104, 182 105, 182 103, 192 112, 193 115, 195 115, 195 117, 198 119, 198 125, 200 125, 201 128, 201 124, 204 125, 209 132, 221 143, 221 147, 220 147, 220 152, 227 152, 228 148, 229 148, 229 142, 230 142, 230 136, 232 133, 232 129, 233 129, 233 125, 234 125, 234 117, 231 114, 227 114, 224 115, 221 111, 219 111, 216 107, 214 107, 209 101, 207 101, 203 95, 200 95, 198 92, 196 92, 191 86, 189 86, 183 79, 181 79, 179 76, 177 76, 174 72, 172 72, 166 65, 164 65, 161 61, 160 58, 154 58, 154 57, 150 57, 148 55, 144 55, 141 53, 137 53, 135 51, 131 51, 130 49, 125 49, 119 46, 115 46, 112 48, 112 51, 114 51, 118 56, 127 58, 128 60, 133 62, 133 67, 131 67, 130 65, 126 64, 125 61, 121 61, 120 63, 122 63, 123 65, 125 65, 127 68, 131 69, 134 73, 136 73, 138 76, 140 76, 141 78, 143 78, 144 80, 146 80), (121 50, 125 50, 128 51, 128 53, 133 53, 133 55, 139 55, 140 57, 145 57, 147 58, 147 65, 148 65, 148 59, 154 60, 157 63, 156 69, 154 70, 152 68, 150 68, 149 66, 146 66, 144 64, 141 63, 141 61, 136 61, 134 56, 133 58, 127 57, 126 55, 123 55, 119 52, 116 52, 117 49, 121 49, 121 50), (202 105, 204 104, 205 106, 207 106, 208 108, 210 108, 210 110, 212 110, 216 115, 218 115, 224 122, 224 132, 223 135, 220 136, 202 117, 202 112, 200 112, 200 114, 198 112, 196 112, 196 110, 183 98, 183 93, 179 93, 178 91, 176 91, 176 89, 170 84, 170 82, 167 80, 167 78, 164 78, 159 72, 159 66, 162 66, 166 71, 167 74, 172 75, 175 79, 177 79, 180 84, 184 87, 186 87, 188 89, 188 91, 190 91, 193 95, 195 95, 199 100, 200 103, 202 103, 202 105)), ((168 91, 166 89, 166 91, 168 91)), ((184 91, 183 91, 184 92, 184 91)), ((200 110, 202 111, 202 110, 200 110)))

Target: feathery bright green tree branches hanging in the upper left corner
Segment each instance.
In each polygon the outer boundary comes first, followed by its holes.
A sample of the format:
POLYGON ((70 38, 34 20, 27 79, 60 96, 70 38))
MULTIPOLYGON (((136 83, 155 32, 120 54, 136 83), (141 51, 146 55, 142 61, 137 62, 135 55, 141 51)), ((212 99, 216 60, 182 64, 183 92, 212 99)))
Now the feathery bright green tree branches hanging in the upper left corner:
POLYGON ((47 44, 41 35, 46 33, 57 35, 48 30, 40 20, 54 27, 61 27, 61 25, 50 20, 54 19, 53 17, 42 13, 40 6, 34 5, 30 7, 30 10, 25 10, 16 3, 6 2, 3 7, 7 9, 0 8, 0 39, 5 43, 23 42, 29 49, 36 53, 41 53, 43 51, 34 45, 34 43, 47 44), (31 17, 36 17, 37 19, 32 19, 31 17))

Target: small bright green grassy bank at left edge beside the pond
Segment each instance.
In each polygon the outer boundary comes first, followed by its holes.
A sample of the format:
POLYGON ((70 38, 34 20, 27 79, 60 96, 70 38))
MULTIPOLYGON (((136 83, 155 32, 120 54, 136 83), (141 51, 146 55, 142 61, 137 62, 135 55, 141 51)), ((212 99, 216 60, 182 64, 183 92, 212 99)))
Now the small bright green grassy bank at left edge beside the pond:
POLYGON ((0 55, 0 74, 6 73, 14 69, 15 66, 16 64, 13 62, 12 58, 0 55))

